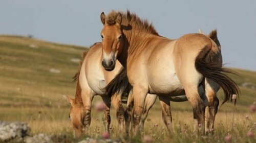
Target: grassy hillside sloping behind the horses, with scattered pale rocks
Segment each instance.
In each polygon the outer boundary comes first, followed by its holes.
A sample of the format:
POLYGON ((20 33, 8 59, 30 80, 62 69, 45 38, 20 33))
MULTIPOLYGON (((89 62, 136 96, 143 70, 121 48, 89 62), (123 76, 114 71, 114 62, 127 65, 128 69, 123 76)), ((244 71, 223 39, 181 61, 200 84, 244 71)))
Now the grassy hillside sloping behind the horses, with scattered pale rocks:
MULTIPOLYGON (((84 50, 86 47, 28 37, 0 36, 0 120, 28 122, 35 132, 51 128, 49 133, 52 133, 59 130, 53 128, 58 125, 63 126, 62 130, 72 132, 70 124, 67 126, 69 104, 61 94, 74 95, 75 83, 71 79, 84 50), (41 122, 44 124, 39 124, 41 122)), ((249 106, 256 101, 256 72, 234 70, 241 77, 231 77, 239 84, 242 93, 236 108, 238 112, 248 112, 249 106)), ((222 101, 222 91, 218 97, 222 101)), ((156 115, 161 118, 158 110, 160 106, 156 102, 149 118, 156 115)), ((189 111, 192 116, 188 102, 172 103, 172 110, 189 111)), ((233 111, 233 105, 224 104, 220 111, 233 111)), ((101 115, 94 114, 93 117, 101 118, 101 115)))

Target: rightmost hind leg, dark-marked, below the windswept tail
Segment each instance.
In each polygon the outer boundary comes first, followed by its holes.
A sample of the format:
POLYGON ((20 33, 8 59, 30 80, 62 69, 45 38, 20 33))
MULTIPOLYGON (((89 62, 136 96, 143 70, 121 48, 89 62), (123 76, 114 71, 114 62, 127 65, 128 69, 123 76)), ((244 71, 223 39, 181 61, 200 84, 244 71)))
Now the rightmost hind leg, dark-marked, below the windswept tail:
POLYGON ((214 122, 219 106, 219 99, 216 96, 216 92, 220 89, 220 86, 216 82, 206 78, 204 87, 208 100, 208 106, 205 112, 205 131, 208 134, 214 131, 214 122))

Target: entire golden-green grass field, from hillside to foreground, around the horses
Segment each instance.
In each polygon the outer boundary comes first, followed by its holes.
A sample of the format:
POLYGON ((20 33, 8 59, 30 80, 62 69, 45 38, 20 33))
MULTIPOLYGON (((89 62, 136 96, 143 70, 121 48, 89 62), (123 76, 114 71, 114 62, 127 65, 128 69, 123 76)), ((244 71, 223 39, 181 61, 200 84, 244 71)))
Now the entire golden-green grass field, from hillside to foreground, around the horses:
MULTIPOLYGON (((76 61, 84 50, 85 47, 22 36, 0 36, 0 120, 26 122, 32 128, 31 134, 44 132, 66 136, 67 142, 75 141, 68 119, 69 104, 61 95, 74 96, 76 84, 72 77, 78 69, 76 61)), ((256 132, 256 113, 249 110, 256 102, 256 72, 234 70, 241 75, 231 77, 238 83, 242 95, 236 109, 232 103, 220 106, 214 135, 202 137, 195 133, 188 102, 171 103, 175 132, 169 135, 162 122, 158 101, 145 122, 144 134, 152 136, 154 142, 224 142, 228 133, 233 142, 255 142, 255 136, 248 138, 246 133, 249 130, 256 132)), ((222 101, 222 91, 218 97, 222 101)), ((99 100, 95 98, 94 102, 99 100)), ((121 138, 124 142, 141 141, 141 137, 131 139, 120 134, 115 111, 111 110, 111 114, 112 138, 121 138)), ((85 136, 101 137, 101 118, 101 112, 92 110, 90 133, 85 136)))

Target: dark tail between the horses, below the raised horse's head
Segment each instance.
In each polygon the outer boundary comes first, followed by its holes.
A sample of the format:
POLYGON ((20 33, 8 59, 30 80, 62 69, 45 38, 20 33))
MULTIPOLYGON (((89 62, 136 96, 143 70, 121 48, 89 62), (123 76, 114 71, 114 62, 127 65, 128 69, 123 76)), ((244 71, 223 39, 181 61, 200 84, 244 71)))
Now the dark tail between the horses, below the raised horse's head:
POLYGON ((126 70, 122 68, 119 74, 104 88, 104 91, 108 96, 112 97, 116 94, 121 94, 122 98, 127 97, 132 89, 132 85, 129 83, 126 70))

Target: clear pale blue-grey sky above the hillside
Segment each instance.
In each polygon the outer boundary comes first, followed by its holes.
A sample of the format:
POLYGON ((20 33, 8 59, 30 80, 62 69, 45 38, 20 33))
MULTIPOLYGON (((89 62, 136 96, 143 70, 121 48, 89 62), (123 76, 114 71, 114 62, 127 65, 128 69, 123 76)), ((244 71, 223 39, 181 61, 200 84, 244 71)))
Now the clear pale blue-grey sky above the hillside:
POLYGON ((256 71, 255 6, 254 0, 0 0, 0 34, 90 46, 101 41, 101 12, 129 9, 170 39, 217 29, 225 66, 256 71))

